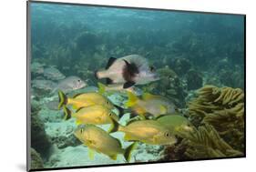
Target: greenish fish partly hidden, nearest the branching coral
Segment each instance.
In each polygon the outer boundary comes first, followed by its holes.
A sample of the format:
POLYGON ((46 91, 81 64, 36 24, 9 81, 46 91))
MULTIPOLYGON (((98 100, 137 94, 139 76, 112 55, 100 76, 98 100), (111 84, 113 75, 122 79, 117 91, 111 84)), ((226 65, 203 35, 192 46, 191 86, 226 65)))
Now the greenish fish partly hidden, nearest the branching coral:
POLYGON ((193 131, 193 126, 185 116, 179 114, 168 114, 159 116, 157 121, 169 129, 169 131, 179 136, 179 132, 193 131))

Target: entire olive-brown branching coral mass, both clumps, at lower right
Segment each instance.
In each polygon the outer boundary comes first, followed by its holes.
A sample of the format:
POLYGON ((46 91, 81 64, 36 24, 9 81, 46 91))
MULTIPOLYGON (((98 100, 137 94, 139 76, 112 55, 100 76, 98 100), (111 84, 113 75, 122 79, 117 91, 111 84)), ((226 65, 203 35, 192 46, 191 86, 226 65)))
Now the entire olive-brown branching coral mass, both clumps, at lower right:
POLYGON ((161 160, 244 156, 244 93, 240 88, 203 86, 188 103, 193 131, 179 131, 161 160))

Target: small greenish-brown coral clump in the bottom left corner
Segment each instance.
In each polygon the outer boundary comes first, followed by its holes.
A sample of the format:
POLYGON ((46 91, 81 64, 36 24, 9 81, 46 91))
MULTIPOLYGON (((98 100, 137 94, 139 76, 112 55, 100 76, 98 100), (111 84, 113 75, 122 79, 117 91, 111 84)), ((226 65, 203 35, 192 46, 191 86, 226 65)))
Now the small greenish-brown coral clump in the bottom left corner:
POLYGON ((34 148, 30 148, 30 169, 44 168, 44 162, 39 153, 34 148))

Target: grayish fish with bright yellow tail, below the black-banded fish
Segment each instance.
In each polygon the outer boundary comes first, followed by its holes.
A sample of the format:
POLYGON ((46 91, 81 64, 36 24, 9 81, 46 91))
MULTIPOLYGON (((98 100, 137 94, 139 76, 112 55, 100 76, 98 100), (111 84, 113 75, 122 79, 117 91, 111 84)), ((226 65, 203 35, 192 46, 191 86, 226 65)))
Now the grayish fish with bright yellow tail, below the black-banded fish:
POLYGON ((168 98, 149 93, 144 93, 140 99, 133 93, 128 92, 128 101, 125 105, 130 107, 142 118, 145 118, 147 114, 157 117, 178 111, 178 108, 168 98))

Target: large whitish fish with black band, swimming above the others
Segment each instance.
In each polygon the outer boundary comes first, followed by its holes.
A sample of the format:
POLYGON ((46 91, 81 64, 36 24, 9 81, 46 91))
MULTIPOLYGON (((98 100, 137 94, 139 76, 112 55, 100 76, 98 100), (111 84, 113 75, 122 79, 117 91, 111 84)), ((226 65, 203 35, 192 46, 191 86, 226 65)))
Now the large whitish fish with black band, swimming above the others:
POLYGON ((107 84, 122 84, 123 88, 159 80, 154 67, 149 66, 148 60, 139 55, 110 57, 106 69, 97 71, 95 76, 97 79, 107 78, 107 84))

